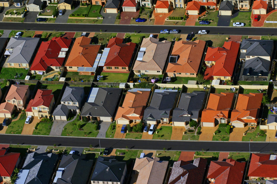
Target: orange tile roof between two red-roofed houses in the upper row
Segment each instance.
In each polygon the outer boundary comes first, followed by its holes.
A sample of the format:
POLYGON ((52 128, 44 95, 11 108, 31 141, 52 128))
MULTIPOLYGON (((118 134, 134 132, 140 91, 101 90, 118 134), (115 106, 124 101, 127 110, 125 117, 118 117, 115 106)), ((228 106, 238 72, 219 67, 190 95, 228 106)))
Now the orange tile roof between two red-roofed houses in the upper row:
POLYGON ((91 45, 88 37, 76 38, 65 66, 93 67, 101 45, 91 45))

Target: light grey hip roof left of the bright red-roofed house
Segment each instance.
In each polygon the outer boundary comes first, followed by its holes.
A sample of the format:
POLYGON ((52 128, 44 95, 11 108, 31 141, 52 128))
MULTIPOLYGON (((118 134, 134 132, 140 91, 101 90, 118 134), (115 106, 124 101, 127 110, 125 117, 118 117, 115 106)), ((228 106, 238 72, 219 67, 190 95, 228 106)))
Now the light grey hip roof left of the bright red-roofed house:
POLYGON ((11 37, 6 47, 6 49, 12 49, 8 63, 29 64, 39 42, 40 38, 11 37))

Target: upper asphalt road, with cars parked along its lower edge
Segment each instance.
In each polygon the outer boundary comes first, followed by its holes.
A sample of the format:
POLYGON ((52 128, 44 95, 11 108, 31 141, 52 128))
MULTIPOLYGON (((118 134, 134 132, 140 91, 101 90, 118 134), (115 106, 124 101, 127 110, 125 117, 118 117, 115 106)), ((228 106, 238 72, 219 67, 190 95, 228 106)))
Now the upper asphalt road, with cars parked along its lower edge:
POLYGON ((159 33, 162 29, 179 29, 181 34, 209 30, 209 34, 225 35, 277 35, 276 28, 253 27, 216 27, 216 26, 143 26, 143 25, 119 25, 119 24, 51 24, 51 23, 17 23, 0 22, 1 29, 9 30, 41 30, 41 31, 78 31, 78 32, 137 32, 159 33))

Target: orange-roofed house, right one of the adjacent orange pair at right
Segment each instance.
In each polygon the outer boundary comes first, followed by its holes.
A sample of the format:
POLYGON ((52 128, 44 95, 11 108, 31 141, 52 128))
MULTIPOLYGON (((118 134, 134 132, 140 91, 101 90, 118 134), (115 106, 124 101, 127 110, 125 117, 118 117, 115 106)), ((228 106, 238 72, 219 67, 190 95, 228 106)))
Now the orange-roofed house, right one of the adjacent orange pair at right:
POLYGON ((239 94, 236 108, 231 112, 231 126, 257 126, 263 93, 239 94))

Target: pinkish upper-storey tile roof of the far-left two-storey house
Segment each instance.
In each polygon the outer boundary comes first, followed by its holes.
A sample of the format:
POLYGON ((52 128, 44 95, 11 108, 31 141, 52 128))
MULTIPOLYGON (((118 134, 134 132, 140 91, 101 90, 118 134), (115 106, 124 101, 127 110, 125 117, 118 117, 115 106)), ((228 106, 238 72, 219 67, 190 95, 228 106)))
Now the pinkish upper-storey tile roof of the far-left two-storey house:
POLYGON ((5 100, 12 100, 12 99, 23 100, 28 89, 29 89, 28 85, 11 85, 5 100))

